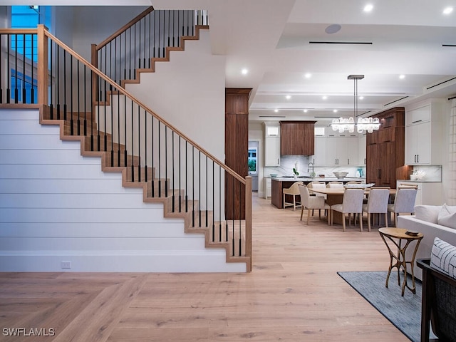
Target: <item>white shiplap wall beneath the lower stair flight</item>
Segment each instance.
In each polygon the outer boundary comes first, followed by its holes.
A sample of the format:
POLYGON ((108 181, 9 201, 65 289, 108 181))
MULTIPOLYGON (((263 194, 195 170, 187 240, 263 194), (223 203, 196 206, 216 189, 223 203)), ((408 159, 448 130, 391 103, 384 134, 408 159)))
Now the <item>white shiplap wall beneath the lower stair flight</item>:
POLYGON ((80 148, 38 110, 0 110, 0 271, 245 271, 80 148))

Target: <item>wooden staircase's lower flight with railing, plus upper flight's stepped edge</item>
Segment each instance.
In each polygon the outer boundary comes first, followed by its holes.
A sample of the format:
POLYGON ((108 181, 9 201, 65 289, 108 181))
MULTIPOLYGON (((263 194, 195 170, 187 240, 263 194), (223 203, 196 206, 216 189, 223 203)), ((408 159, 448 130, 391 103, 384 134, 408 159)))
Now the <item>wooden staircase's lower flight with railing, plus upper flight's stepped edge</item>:
MULTIPOLYGON (((237 180, 239 186, 246 187, 247 193, 251 193, 250 180, 246 182, 236 175, 124 88, 130 83, 140 83, 142 73, 155 71, 155 63, 169 61, 170 51, 183 51, 186 40, 197 39, 199 30, 207 28, 197 26, 195 36, 181 37, 179 46, 167 47, 164 56, 150 58, 150 67, 136 68, 135 78, 119 79, 116 83, 43 27, 38 27, 38 43, 50 45, 51 64, 63 61, 73 71, 67 76, 71 78, 71 84, 76 83, 73 77, 77 78, 78 85, 81 81, 85 86, 91 79, 92 87, 83 91, 80 86, 74 91, 72 88, 71 100, 62 100, 59 92, 66 86, 57 81, 51 85, 49 94, 46 90, 38 93, 38 105, 30 106, 40 109, 41 124, 60 126, 61 140, 80 140, 81 155, 100 157, 103 172, 121 172, 123 187, 142 189, 145 203, 162 204, 165 218, 183 219, 186 233, 204 234, 205 247, 224 249, 227 263, 244 263, 245 269, 251 271, 251 202, 246 205, 249 219, 231 219, 224 209, 225 195, 229 191, 225 189, 227 179, 237 180), (82 69, 86 72, 80 73, 82 69), (80 100, 73 103, 76 93, 80 100), (90 105, 87 98, 95 100, 90 105), (213 184, 208 184, 211 181, 213 184)), ((9 31, 11 33, 14 32, 9 31)), ((41 63, 47 65, 46 56, 38 56, 38 80, 45 83, 47 69, 40 68, 41 63)), ((50 78, 61 80, 63 77, 54 74, 50 78)), ((68 94, 68 89, 64 94, 68 94)), ((26 106, 24 103, 16 105, 26 106)), ((247 204, 247 197, 245 200, 247 204)))

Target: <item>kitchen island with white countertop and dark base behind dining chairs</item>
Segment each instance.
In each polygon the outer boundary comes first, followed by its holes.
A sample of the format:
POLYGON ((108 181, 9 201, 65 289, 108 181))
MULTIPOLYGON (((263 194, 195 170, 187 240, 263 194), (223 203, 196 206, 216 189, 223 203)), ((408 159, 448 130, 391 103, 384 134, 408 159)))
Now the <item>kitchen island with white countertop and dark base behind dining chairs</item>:
MULTIPOLYGON (((365 182, 366 178, 356 178, 356 177, 346 177, 343 180, 338 180, 336 177, 272 177, 271 178, 271 203, 274 204, 275 207, 282 209, 284 207, 284 192, 283 190, 291 187, 294 182, 303 182, 304 185, 308 185, 310 182, 336 182, 341 181, 344 184, 346 182, 352 181, 361 181, 365 182)), ((289 195, 287 195, 289 196, 289 195)), ((292 202, 292 198, 290 196, 287 199, 287 202, 292 202)), ((296 201, 301 202, 299 196, 296 197, 296 201)))

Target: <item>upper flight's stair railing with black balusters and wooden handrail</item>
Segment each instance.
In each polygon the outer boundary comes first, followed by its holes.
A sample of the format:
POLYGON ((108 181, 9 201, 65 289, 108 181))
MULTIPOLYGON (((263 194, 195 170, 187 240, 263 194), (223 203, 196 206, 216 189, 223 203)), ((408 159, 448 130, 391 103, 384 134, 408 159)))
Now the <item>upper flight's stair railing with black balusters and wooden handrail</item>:
POLYGON ((98 45, 92 44, 92 65, 120 86, 150 69, 167 48, 179 48, 182 38, 195 36, 196 25, 207 25, 207 11, 154 10, 149 7, 98 45))

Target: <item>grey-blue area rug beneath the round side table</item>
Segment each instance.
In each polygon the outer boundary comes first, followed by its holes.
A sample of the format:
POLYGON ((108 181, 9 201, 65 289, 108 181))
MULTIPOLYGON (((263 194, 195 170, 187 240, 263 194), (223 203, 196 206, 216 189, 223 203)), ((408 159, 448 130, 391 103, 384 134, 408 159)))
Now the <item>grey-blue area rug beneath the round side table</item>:
MULTIPOLYGON (((402 287, 398 286, 397 271, 391 272, 388 288, 385 287, 388 274, 386 271, 337 273, 411 341, 420 341, 420 281, 415 281, 416 294, 406 288, 404 296, 401 296, 402 287)), ((400 284, 402 284, 403 272, 400 272, 400 276, 400 284)), ((410 276, 407 282, 409 286, 412 285, 410 276)))

